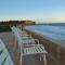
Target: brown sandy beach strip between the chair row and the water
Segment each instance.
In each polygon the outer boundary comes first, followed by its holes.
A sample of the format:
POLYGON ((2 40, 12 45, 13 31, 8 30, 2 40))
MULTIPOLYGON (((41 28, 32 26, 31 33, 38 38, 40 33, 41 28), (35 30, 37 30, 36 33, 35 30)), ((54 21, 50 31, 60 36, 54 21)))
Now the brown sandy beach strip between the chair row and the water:
POLYGON ((48 65, 65 65, 65 48, 61 44, 43 38, 32 31, 26 30, 27 34, 31 35, 35 39, 39 39, 40 43, 44 46, 48 51, 48 65))

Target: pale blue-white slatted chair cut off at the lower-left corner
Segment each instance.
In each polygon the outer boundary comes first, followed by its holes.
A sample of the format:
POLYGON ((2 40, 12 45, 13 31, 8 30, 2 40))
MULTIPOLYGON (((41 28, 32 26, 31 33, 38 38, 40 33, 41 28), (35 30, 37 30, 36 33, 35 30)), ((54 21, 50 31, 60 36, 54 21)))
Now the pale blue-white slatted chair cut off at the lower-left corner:
POLYGON ((0 65, 14 65, 4 43, 0 39, 0 65))

